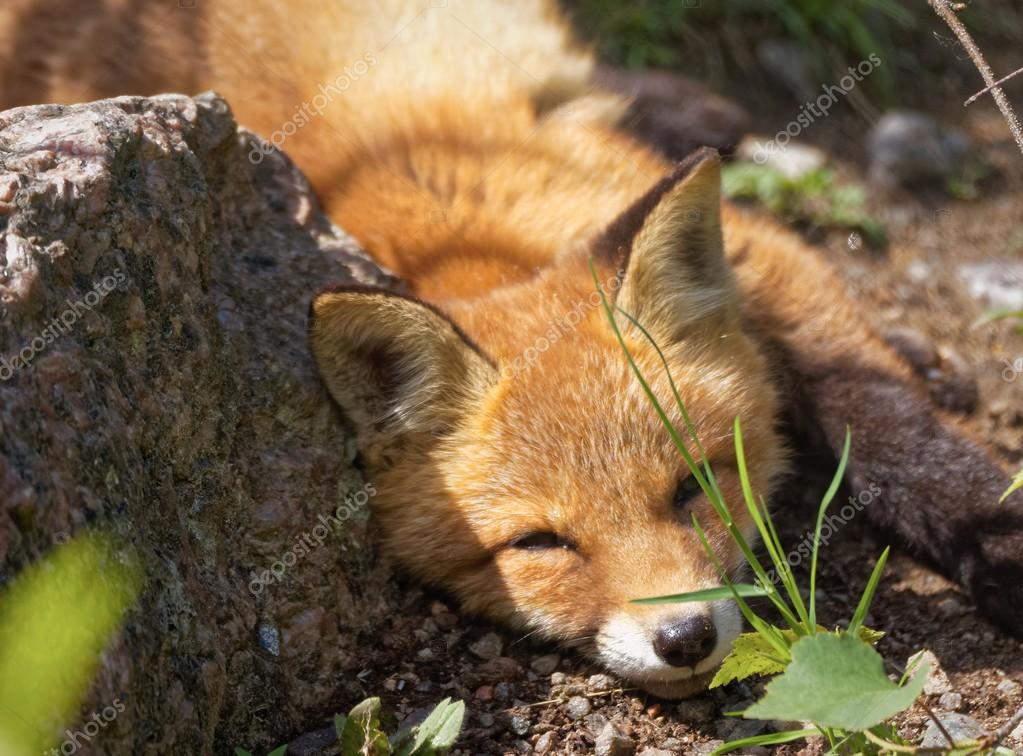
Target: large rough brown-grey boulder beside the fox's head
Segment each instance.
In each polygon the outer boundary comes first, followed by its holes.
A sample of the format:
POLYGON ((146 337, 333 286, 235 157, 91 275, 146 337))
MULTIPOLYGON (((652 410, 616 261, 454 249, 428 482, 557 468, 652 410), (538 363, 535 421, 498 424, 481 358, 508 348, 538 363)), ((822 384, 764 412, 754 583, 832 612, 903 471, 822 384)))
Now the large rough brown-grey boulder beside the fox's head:
POLYGON ((321 726, 397 604, 306 346, 316 291, 391 279, 255 144, 213 94, 0 114, 0 584, 86 528, 133 544, 80 709, 126 702, 104 754, 321 726))

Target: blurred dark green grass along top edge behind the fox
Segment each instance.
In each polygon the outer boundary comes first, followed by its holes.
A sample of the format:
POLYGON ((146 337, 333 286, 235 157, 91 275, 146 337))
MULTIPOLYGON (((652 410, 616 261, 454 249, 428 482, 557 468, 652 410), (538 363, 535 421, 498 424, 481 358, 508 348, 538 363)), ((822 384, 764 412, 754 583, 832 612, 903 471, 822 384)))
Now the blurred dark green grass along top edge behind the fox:
MULTIPOLYGON (((893 60, 894 33, 917 21, 897 0, 570 0, 569 7, 612 63, 699 73, 708 43, 720 57, 738 58, 738 48, 748 55, 760 40, 781 38, 807 51, 825 80, 871 54, 893 60)), ((893 70, 872 77, 883 97, 893 95, 893 70)))

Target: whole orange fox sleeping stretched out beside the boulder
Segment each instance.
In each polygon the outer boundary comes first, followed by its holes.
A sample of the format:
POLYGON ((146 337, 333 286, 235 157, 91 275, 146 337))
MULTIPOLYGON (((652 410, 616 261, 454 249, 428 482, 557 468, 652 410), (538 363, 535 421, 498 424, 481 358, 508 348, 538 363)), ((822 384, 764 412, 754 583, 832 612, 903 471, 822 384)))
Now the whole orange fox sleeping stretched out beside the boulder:
MULTIPOLYGON (((631 374, 592 261, 663 349, 747 537, 733 418, 765 496, 787 429, 834 452, 851 426, 865 517, 1020 632, 1005 472, 816 251, 722 203, 716 152, 674 165, 619 128, 629 103, 591 84, 551 0, 8 0, 0 34, 5 107, 219 90, 267 138, 253 162, 287 152, 404 280, 315 295, 312 352, 388 550, 468 611, 664 697, 704 686, 740 632, 730 602, 630 603, 719 584, 694 514, 733 577, 743 560, 631 374)), ((656 351, 621 327, 667 400, 656 351)))

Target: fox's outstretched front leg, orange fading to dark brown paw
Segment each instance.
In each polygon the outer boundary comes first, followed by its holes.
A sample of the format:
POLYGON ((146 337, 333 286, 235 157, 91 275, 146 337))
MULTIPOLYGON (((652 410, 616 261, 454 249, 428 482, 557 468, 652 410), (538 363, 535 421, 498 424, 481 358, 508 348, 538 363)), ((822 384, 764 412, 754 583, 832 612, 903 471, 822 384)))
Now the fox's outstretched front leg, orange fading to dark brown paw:
POLYGON ((1023 495, 998 503, 1007 473, 930 402, 812 250, 768 223, 729 227, 749 327, 773 347, 798 413, 836 455, 851 429, 847 481, 881 491, 864 507, 871 522, 1023 633, 1023 495))

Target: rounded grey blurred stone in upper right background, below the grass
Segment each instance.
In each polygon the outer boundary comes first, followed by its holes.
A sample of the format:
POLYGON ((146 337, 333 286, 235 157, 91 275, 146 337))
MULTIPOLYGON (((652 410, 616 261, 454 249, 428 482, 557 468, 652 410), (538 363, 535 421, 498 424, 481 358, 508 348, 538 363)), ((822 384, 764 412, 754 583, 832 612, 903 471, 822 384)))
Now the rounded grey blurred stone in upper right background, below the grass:
POLYGON ((958 175, 972 143, 966 132, 927 114, 889 110, 868 134, 866 149, 871 180, 893 188, 958 175))

